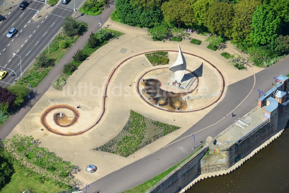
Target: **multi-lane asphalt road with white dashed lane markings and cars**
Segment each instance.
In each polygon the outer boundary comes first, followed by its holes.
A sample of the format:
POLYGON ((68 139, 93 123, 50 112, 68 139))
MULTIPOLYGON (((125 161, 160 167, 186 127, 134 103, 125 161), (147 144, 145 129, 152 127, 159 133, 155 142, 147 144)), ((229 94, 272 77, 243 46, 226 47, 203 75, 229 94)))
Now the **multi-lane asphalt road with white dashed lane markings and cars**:
MULTIPOLYGON (((8 72, 8 75, 0 81, 0 86, 2 87, 9 86, 14 82, 15 73, 17 79, 19 79, 21 69, 24 73, 35 57, 58 34, 61 24, 64 22, 64 17, 73 14, 73 10, 56 6, 42 19, 34 21, 32 17, 45 4, 41 1, 28 2, 27 8, 24 10, 14 8, 11 12, 4 15, 6 19, 0 23, 0 70, 3 69, 8 72), (16 28, 17 33, 12 38, 7 38, 7 31, 12 27, 16 28), (14 56, 13 53, 21 56, 21 64, 20 57, 14 56)), ((79 3, 81 2, 79 1, 79 3)))

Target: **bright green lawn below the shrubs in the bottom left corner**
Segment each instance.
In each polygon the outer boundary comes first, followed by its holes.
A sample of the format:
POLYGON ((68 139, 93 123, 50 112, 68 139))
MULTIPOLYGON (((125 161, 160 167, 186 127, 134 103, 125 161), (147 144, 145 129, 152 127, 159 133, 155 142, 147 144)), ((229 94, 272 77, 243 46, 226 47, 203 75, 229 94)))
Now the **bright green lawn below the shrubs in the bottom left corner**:
POLYGON ((60 188, 58 185, 53 183, 45 182, 40 183, 33 177, 30 177, 17 165, 14 165, 15 173, 11 177, 11 181, 3 187, 0 193, 20 193, 27 189, 35 190, 38 193, 50 193, 50 192, 61 192, 66 188, 60 188))

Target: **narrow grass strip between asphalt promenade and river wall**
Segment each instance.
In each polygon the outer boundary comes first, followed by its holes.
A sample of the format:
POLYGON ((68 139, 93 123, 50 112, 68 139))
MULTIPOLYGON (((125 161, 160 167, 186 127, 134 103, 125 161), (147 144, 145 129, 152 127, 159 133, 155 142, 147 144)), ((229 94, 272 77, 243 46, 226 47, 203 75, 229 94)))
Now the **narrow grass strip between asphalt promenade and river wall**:
POLYGON ((161 181, 166 175, 168 175, 171 171, 175 170, 179 165, 181 165, 181 163, 183 163, 184 161, 186 161, 187 159, 189 159, 193 154, 195 154, 197 151, 199 151, 202 148, 202 146, 200 146, 196 151, 194 151, 192 154, 190 154, 187 158, 183 159, 182 161, 180 161, 179 163, 177 163, 176 165, 174 165, 173 167, 169 168, 168 170, 162 172, 161 174, 159 174, 158 176, 155 176, 154 178, 140 184, 137 185, 136 187, 133 187, 129 190, 124 191, 123 193, 144 193, 147 190, 149 190, 151 187, 153 187, 156 183, 158 183, 159 181, 161 181))

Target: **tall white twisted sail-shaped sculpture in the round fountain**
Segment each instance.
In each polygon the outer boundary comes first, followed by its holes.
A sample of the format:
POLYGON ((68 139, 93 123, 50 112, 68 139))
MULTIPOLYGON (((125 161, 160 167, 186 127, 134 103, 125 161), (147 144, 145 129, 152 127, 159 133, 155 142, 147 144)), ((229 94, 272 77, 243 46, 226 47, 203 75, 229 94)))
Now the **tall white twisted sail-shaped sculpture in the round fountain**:
POLYGON ((181 83, 182 81, 184 81, 183 78, 186 73, 187 64, 186 64, 185 57, 183 53, 181 52, 181 48, 179 45, 178 47, 179 47, 178 58, 175 61, 175 63, 168 69, 175 73, 175 80, 181 83))

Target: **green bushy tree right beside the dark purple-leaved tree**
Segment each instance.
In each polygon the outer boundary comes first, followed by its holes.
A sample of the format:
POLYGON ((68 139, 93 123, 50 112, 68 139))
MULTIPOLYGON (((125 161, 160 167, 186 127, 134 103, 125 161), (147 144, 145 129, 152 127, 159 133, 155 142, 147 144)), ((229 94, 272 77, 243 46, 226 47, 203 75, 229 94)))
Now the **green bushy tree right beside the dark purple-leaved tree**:
POLYGON ((16 95, 14 101, 15 106, 20 106, 25 101, 28 94, 31 92, 29 88, 22 84, 13 84, 7 87, 7 90, 16 95))

